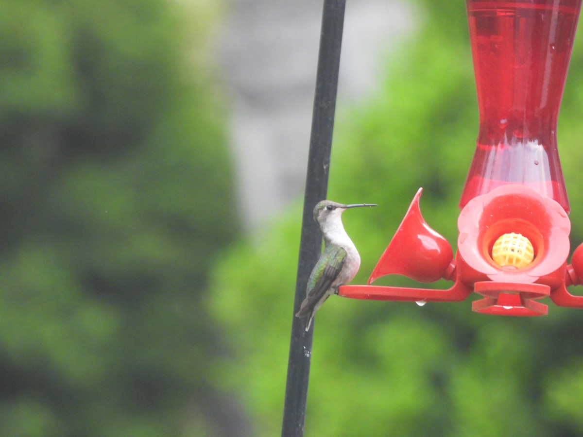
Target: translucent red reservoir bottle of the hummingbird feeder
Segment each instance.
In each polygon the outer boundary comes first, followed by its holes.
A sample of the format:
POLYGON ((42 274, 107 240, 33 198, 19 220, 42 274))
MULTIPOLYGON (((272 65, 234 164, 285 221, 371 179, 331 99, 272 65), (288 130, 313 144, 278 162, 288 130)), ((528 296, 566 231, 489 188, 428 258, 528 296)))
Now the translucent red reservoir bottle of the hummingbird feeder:
POLYGON ((557 118, 582 0, 466 0, 480 128, 459 206, 505 184, 569 205, 557 118))

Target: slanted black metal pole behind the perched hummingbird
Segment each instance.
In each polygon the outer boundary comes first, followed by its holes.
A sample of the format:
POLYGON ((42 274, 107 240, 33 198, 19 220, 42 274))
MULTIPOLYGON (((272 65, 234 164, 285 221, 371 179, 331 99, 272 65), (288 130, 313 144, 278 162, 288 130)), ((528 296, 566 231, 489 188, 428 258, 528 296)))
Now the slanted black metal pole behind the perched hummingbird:
MULTIPOLYGON (((295 314, 305 298, 310 273, 322 248, 322 235, 312 216, 312 210, 328 192, 328 173, 332 150, 332 132, 338 89, 338 70, 346 0, 324 0, 322 30, 318 53, 318 70, 310 151, 305 178, 304 214, 301 223, 300 255, 297 265, 295 314)), ((310 357, 314 323, 308 332, 304 321, 293 317, 287 364, 286 396, 283 407, 282 437, 304 435, 305 404, 310 378, 310 357)))

